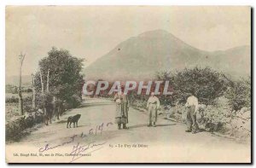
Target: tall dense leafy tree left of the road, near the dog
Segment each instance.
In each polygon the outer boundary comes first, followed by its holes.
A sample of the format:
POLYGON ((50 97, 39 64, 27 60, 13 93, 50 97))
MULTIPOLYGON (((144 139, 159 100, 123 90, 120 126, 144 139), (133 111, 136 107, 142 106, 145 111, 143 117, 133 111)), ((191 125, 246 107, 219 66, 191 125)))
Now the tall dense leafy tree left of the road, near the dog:
MULTIPOLYGON (((79 103, 74 101, 82 97, 84 85, 83 59, 74 57, 67 49, 56 49, 53 47, 48 56, 39 61, 39 72, 35 76, 36 90, 42 91, 42 85, 52 96, 61 101, 67 101, 73 107, 79 103), (41 81, 42 78, 42 81, 41 81)), ((44 90, 43 90, 44 92, 44 90)))

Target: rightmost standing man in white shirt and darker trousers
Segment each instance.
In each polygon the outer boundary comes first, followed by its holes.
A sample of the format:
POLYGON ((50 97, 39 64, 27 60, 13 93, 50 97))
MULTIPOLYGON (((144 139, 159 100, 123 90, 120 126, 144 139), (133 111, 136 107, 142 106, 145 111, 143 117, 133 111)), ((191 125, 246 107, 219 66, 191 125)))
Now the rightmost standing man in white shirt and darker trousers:
POLYGON ((186 132, 191 132, 192 134, 197 133, 197 123, 196 123, 196 112, 198 111, 198 99, 194 96, 193 93, 189 94, 189 98, 185 104, 187 107, 187 126, 188 130, 186 132))

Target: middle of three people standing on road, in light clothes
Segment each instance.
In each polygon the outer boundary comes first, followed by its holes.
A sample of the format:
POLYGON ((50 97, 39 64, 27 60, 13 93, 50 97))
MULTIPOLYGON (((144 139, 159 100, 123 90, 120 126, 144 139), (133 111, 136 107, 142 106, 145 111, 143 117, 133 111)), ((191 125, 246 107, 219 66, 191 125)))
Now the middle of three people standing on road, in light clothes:
POLYGON ((151 96, 148 98, 147 108, 149 113, 148 126, 152 126, 153 122, 153 125, 155 127, 155 123, 157 120, 157 110, 160 108, 160 101, 156 96, 154 96, 154 92, 151 92, 151 96))

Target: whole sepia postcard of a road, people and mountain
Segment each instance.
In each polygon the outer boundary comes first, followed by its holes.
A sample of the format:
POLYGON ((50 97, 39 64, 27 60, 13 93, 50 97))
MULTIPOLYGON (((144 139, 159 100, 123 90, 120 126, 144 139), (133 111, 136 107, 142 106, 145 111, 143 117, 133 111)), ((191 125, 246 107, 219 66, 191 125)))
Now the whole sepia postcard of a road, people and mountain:
POLYGON ((251 163, 251 16, 6 6, 6 162, 251 163))

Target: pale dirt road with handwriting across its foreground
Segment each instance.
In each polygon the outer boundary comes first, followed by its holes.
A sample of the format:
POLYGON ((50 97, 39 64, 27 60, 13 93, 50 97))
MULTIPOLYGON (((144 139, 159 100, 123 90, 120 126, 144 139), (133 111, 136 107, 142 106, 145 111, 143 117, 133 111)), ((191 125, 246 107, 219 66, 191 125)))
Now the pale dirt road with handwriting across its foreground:
POLYGON ((157 127, 147 127, 147 113, 133 108, 129 111, 129 130, 117 130, 114 115, 113 101, 86 100, 81 107, 61 116, 61 120, 38 128, 20 142, 8 144, 7 160, 11 158, 18 162, 250 161, 250 144, 213 136, 209 132, 186 133, 186 125, 165 119, 158 119, 157 127), (77 113, 82 115, 79 127, 67 129, 67 118, 77 113), (26 154, 29 156, 25 156, 26 154))

